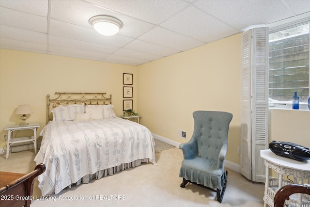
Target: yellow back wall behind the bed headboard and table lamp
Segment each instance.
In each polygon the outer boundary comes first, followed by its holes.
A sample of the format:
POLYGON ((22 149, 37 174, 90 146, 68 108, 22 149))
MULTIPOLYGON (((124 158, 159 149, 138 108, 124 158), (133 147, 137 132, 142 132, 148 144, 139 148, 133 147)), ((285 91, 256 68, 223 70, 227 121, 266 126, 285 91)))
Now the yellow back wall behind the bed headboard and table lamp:
MULTIPOLYGON (((55 92, 106 92, 113 110, 123 114, 123 73, 133 74, 133 106, 137 109, 137 67, 32 52, 0 49, 0 148, 3 128, 20 123, 20 104, 30 104, 28 122, 46 124, 46 97, 55 92)), ((18 132, 18 136, 28 133, 18 132)))

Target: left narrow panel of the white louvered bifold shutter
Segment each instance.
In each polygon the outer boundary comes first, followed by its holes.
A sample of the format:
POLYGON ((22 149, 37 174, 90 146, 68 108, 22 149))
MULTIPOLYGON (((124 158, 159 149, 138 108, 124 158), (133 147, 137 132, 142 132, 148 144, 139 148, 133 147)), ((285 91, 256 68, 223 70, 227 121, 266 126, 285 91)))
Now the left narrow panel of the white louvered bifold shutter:
POLYGON ((242 35, 240 172, 251 179, 251 30, 242 35))

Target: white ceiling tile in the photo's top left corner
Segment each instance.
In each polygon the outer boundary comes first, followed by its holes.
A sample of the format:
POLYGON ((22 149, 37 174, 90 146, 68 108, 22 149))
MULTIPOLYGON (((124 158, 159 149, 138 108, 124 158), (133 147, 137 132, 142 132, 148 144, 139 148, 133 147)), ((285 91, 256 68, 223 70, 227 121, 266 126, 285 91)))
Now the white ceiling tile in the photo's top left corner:
POLYGON ((33 15, 47 16, 47 0, 0 0, 0 6, 33 15))

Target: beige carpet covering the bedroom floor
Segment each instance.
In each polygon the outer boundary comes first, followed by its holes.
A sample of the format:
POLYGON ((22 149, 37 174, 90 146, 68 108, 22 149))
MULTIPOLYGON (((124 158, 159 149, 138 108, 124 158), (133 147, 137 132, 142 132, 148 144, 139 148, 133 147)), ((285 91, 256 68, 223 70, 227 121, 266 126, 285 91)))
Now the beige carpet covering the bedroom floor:
MULTIPOLYGON (((33 151, 0 155, 0 171, 28 173, 35 167, 33 151)), ((187 184, 180 188, 178 177, 183 159, 182 150, 173 147, 156 153, 157 166, 145 163, 88 184, 73 186, 50 197, 55 200, 34 200, 31 207, 262 207, 264 185, 248 181, 228 169, 228 186, 222 203, 216 193, 187 184), (70 200, 62 200, 70 199, 70 200), (85 199, 84 199, 85 198, 85 199), (91 200, 92 198, 92 200, 91 200), (82 200, 84 199, 84 200, 82 200), (87 199, 87 200, 86 200, 87 199)), ((41 196, 38 181, 33 196, 41 196)))

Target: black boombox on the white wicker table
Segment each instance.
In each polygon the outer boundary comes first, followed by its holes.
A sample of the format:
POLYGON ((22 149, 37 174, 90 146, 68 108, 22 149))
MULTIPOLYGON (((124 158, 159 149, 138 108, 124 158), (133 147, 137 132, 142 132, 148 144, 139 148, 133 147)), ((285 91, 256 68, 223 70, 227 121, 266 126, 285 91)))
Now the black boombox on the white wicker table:
POLYGON ((298 161, 310 159, 309 148, 295 143, 272 141, 269 143, 269 149, 276 155, 285 156, 298 161))

